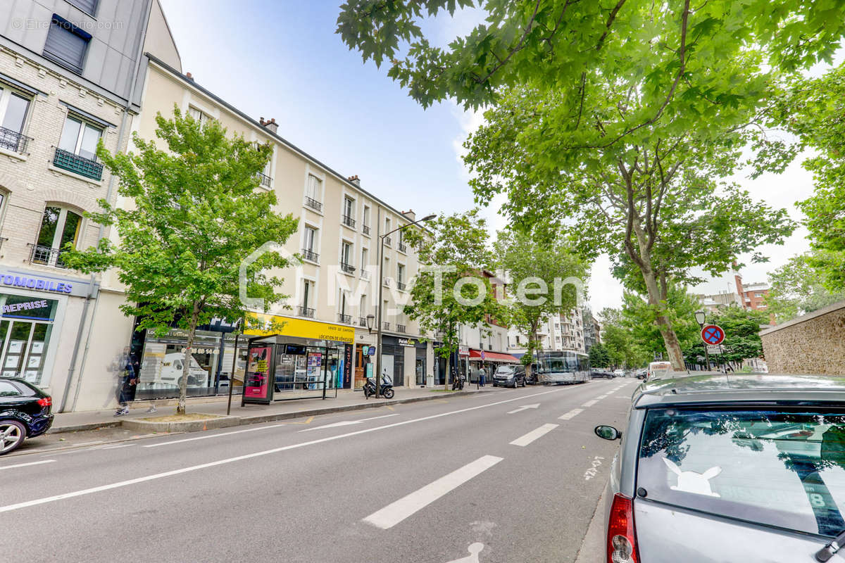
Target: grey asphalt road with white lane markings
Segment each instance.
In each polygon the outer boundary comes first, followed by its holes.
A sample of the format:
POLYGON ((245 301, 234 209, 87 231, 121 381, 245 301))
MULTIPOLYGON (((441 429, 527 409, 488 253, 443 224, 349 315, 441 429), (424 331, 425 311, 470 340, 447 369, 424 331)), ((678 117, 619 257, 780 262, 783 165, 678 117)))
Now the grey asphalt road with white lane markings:
POLYGON ((570 563, 635 381, 33 449, 0 460, 0 560, 570 563))

